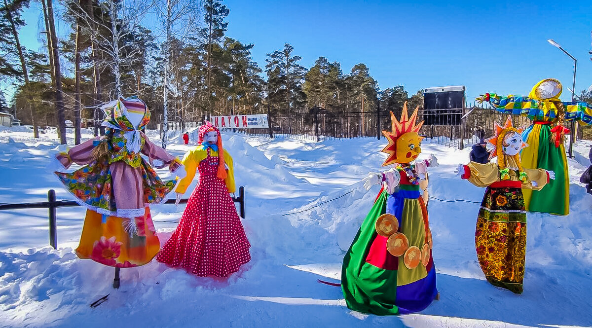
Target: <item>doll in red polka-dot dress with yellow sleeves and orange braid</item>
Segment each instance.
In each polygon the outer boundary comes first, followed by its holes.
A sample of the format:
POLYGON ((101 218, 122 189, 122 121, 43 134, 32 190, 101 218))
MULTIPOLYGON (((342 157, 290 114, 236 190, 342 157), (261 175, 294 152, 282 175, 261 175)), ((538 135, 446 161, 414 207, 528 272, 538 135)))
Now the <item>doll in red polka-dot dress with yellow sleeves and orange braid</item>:
POLYGON ((200 181, 156 260, 198 276, 226 277, 251 259, 249 240, 229 194, 235 189, 233 160, 222 148, 220 131, 209 122, 200 127, 198 144, 183 157, 187 175, 175 189, 177 200, 196 171, 200 181))

